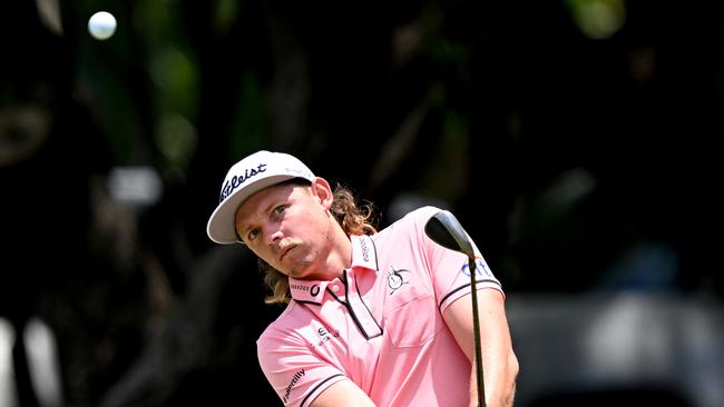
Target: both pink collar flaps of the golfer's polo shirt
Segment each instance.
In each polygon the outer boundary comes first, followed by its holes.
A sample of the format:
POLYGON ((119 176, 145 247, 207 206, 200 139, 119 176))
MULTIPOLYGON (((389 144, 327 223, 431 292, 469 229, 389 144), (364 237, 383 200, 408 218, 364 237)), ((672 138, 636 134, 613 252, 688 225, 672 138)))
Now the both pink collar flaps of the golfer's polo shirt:
MULTIPOLYGON (((374 249, 374 242, 366 236, 350 236, 352 242, 352 268, 365 268, 368 270, 378 270, 378 256, 374 249)), ((292 298, 301 302, 322 304, 326 286, 332 281, 319 280, 300 280, 290 277, 290 294, 292 298)))

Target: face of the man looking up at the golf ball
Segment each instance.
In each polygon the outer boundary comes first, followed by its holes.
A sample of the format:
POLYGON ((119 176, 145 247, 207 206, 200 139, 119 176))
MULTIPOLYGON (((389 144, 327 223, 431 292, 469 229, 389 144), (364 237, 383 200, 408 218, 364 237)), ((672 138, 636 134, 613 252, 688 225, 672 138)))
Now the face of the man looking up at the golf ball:
POLYGON ((295 278, 321 278, 332 247, 329 183, 285 183, 254 193, 236 211, 236 231, 256 256, 295 278))

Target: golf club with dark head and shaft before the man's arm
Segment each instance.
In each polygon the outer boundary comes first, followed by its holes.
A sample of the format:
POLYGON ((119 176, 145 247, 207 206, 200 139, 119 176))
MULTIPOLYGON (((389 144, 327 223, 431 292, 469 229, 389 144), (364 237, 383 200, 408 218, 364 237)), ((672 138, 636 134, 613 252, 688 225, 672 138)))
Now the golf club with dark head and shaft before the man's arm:
POLYGON ((433 215, 424 226, 424 232, 438 245, 468 256, 470 271, 470 295, 472 298, 472 326, 476 347, 476 373, 478 385, 478 406, 485 407, 486 397, 482 384, 482 356, 480 354, 480 321, 478 320, 478 292, 476 289, 476 254, 460 221, 448 210, 433 215))

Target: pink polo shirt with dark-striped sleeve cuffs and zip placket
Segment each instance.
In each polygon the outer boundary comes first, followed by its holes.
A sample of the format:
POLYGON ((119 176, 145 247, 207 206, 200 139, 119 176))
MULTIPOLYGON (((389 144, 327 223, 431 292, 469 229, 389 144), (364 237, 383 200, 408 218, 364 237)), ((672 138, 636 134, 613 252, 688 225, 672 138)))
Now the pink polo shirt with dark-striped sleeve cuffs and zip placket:
MULTIPOLYGON (((442 314, 470 294, 466 255, 424 234, 423 207, 372 236, 352 236, 344 278, 290 278, 292 301, 257 340, 258 360, 286 406, 309 406, 352 380, 378 406, 467 406, 471 364, 442 314)), ((500 282, 477 248, 477 288, 500 282)))

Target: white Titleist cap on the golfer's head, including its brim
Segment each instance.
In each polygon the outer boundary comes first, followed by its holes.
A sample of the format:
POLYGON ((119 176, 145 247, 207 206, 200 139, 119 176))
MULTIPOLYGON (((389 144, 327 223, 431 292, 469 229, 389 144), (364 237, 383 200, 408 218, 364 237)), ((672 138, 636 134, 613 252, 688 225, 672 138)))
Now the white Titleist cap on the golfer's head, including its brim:
POLYGON ((314 181, 315 177, 296 157, 284 152, 262 150, 236 162, 226 173, 218 206, 208 219, 208 237, 222 245, 239 241, 235 226, 238 207, 255 192, 292 178, 314 181))

